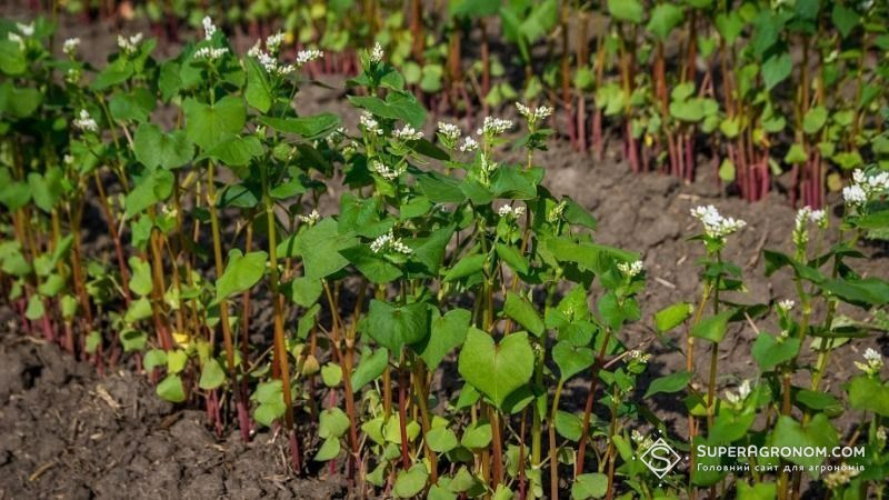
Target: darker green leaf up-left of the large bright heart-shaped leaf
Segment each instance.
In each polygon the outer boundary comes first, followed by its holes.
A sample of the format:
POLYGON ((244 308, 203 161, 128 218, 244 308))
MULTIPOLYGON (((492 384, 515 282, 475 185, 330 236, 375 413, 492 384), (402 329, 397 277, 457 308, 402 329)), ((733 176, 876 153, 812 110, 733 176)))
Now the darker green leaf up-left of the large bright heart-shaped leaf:
POLYGON ((392 306, 370 301, 366 332, 393 353, 406 344, 417 343, 429 334, 429 308, 424 302, 392 306))

